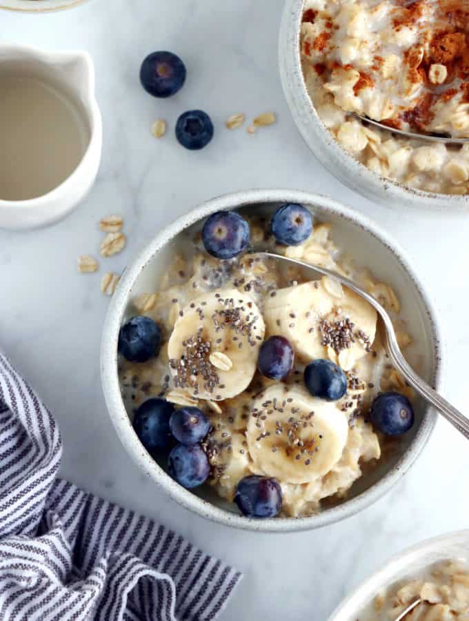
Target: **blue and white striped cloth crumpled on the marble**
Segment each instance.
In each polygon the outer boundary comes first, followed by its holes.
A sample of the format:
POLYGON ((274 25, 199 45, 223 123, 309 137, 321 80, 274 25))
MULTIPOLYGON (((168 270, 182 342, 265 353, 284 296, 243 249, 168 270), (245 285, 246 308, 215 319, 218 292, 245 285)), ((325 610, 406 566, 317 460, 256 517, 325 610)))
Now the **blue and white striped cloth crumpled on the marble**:
POLYGON ((0 354, 0 620, 205 621, 241 575, 57 480, 53 417, 0 354))

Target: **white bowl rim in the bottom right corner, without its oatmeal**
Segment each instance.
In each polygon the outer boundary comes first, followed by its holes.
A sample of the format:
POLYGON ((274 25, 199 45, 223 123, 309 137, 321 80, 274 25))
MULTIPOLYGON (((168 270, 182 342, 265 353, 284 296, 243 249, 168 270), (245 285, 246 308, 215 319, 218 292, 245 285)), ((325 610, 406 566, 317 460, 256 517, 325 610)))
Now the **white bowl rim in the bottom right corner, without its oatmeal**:
POLYGON ((363 582, 344 600, 328 621, 357 621, 375 596, 395 582, 418 577, 428 566, 450 559, 469 558, 469 531, 457 531, 439 535, 401 552, 386 563, 377 573, 363 582))

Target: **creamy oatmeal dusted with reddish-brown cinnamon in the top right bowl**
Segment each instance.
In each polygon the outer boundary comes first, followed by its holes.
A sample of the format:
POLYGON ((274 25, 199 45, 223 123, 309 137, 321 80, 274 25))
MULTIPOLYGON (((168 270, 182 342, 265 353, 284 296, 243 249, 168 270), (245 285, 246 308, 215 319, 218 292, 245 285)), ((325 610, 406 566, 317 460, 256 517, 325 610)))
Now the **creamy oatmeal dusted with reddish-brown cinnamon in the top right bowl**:
POLYGON ((306 88, 339 144, 411 188, 464 195, 469 145, 397 137, 391 127, 469 136, 469 6, 464 0, 306 0, 306 88))

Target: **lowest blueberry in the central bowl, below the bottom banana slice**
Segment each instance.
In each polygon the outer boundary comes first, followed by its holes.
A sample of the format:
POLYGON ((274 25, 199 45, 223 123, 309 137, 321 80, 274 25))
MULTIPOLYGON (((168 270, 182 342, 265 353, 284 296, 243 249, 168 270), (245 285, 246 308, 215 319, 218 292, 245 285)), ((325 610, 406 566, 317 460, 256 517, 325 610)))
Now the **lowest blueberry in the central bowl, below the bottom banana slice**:
POLYGON ((234 502, 246 517, 275 517, 282 505, 277 479, 250 475, 238 483, 234 502))

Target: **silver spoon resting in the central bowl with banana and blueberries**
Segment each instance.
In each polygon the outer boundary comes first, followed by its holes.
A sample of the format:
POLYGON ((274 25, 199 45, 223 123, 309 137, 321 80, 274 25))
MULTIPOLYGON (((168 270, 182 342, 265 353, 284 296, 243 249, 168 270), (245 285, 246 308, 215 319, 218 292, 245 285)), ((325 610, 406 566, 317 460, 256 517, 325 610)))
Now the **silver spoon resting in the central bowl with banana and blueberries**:
MULTIPOLYGON (((256 255, 263 255, 264 257, 269 257, 271 259, 276 259, 280 262, 285 262, 297 266, 301 266, 308 270, 312 275, 316 277, 318 275, 327 276, 332 278, 333 280, 339 282, 343 286, 348 287, 352 291, 355 291, 357 295, 366 299, 368 304, 371 304, 377 312, 378 316, 381 319, 381 326, 383 328, 383 336, 384 336, 384 346, 386 347, 386 352, 388 353, 391 362, 394 366, 401 372, 403 377, 407 380, 408 384, 414 388, 414 390, 426 400, 426 402, 430 403, 432 406, 437 408, 437 410, 448 420, 452 426, 456 427, 459 432, 463 434, 469 440, 469 419, 463 416, 455 407, 453 407, 446 399, 443 399, 441 395, 439 395, 436 391, 433 390, 431 386, 429 386, 426 382, 424 382, 415 371, 408 364, 406 359, 403 357, 399 345, 397 344, 396 333, 394 330, 394 326, 392 326, 392 321, 388 313, 384 310, 383 306, 377 302, 377 300, 372 297, 366 291, 363 291, 355 282, 346 278, 345 276, 341 276, 336 272, 332 272, 326 268, 322 268, 319 266, 312 266, 309 263, 304 263, 303 261, 298 261, 297 259, 290 259, 290 257, 283 257, 283 255, 277 255, 275 253, 270 252, 259 252, 256 255)), ((381 327, 379 326, 379 327, 381 327)))

